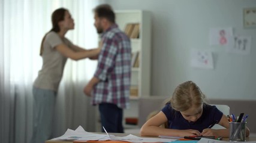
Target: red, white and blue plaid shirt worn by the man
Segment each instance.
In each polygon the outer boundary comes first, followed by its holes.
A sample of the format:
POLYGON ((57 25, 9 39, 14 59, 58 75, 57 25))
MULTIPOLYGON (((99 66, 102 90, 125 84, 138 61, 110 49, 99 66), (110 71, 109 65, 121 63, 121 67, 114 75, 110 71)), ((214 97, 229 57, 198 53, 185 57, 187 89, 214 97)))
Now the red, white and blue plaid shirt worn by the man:
POLYGON ((103 47, 94 74, 100 79, 92 91, 92 104, 113 103, 129 107, 131 83, 131 43, 127 35, 113 24, 101 36, 103 47))

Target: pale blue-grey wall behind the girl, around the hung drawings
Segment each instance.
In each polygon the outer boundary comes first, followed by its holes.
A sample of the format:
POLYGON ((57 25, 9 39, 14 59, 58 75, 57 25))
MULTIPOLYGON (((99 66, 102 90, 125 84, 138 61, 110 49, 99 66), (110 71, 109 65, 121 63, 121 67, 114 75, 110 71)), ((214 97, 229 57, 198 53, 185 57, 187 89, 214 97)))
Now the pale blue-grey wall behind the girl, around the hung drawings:
POLYGON ((256 29, 243 28, 243 8, 254 0, 109 0, 115 10, 152 13, 152 95, 171 95, 179 83, 193 80, 208 98, 255 100, 256 29), (209 45, 209 29, 233 27, 252 36, 251 54, 228 54, 209 45), (190 66, 191 48, 213 52, 214 69, 190 66))

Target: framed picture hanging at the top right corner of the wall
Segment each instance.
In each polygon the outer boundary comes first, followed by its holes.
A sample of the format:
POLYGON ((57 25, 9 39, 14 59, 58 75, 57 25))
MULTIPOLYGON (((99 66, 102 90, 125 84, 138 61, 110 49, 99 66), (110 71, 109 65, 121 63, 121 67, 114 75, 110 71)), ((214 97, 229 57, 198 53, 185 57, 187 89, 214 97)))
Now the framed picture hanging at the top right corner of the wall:
POLYGON ((244 28, 256 27, 256 7, 243 9, 243 27, 244 28))

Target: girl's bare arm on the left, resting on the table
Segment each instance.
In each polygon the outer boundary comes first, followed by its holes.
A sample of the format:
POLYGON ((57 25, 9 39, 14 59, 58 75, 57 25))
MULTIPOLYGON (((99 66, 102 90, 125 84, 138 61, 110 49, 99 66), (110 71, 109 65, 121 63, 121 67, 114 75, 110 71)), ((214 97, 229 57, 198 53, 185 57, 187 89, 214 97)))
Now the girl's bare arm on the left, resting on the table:
POLYGON ((200 135, 198 130, 177 130, 177 129, 165 129, 159 127, 163 123, 167 122, 167 117, 160 111, 158 114, 147 120, 146 123, 140 129, 141 136, 192 136, 200 135))

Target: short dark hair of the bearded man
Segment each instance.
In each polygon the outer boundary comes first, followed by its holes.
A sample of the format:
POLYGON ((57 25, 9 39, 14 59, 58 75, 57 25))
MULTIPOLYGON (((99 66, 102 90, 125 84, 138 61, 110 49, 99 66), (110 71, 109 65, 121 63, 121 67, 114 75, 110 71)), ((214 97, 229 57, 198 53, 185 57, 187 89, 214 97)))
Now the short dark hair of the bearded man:
POLYGON ((98 5, 98 7, 94 9, 94 13, 100 18, 106 18, 111 23, 115 23, 115 13, 112 10, 112 7, 108 4, 98 5))

